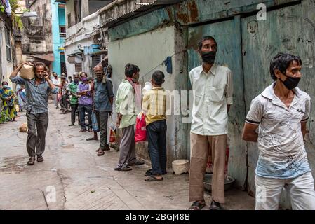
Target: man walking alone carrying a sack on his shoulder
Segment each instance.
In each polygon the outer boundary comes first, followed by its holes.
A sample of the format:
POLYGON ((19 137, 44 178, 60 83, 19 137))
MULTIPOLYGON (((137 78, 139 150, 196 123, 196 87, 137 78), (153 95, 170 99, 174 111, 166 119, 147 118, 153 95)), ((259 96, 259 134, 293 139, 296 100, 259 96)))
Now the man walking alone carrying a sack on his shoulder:
POLYGON ((29 161, 27 165, 34 165, 35 155, 37 162, 43 162, 43 152, 45 151, 45 138, 48 127, 48 95, 57 93, 55 85, 49 79, 46 65, 42 62, 34 63, 35 78, 27 80, 18 77, 18 72, 24 64, 33 65, 30 62, 24 62, 15 69, 10 76, 12 83, 25 85, 27 102, 27 152, 29 161), (36 152, 36 153, 35 153, 36 152))

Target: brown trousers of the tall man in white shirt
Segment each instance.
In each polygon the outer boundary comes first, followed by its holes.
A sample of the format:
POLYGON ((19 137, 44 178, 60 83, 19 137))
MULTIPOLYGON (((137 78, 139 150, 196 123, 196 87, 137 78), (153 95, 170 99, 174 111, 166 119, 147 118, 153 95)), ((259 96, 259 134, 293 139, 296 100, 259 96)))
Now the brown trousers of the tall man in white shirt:
POLYGON ((227 148, 227 134, 203 136, 190 134, 189 202, 203 200, 203 178, 208 155, 213 162, 212 198, 224 203, 224 165, 227 148))

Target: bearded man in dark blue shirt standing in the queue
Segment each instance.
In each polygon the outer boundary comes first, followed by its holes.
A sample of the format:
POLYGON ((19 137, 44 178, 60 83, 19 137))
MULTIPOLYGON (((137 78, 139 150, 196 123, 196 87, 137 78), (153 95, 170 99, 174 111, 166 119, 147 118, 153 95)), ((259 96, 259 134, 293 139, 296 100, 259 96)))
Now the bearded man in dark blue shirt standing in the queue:
POLYGON ((114 99, 113 84, 111 80, 107 80, 102 66, 94 68, 96 79, 94 80, 94 111, 96 120, 98 121, 98 129, 100 130, 100 148, 98 148, 98 156, 104 155, 104 151, 109 151, 107 144, 107 120, 112 113, 112 105, 114 99))

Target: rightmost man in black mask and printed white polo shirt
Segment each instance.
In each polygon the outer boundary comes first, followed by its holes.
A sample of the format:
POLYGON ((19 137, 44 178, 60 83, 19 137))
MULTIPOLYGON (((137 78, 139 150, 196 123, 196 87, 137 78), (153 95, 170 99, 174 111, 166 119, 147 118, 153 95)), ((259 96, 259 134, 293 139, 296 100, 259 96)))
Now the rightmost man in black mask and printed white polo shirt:
POLYGON ((283 187, 292 209, 315 210, 314 179, 303 141, 311 97, 297 87, 301 69, 300 57, 276 55, 270 63, 274 83, 253 99, 246 116, 243 139, 257 142, 259 151, 257 210, 279 209, 283 187))

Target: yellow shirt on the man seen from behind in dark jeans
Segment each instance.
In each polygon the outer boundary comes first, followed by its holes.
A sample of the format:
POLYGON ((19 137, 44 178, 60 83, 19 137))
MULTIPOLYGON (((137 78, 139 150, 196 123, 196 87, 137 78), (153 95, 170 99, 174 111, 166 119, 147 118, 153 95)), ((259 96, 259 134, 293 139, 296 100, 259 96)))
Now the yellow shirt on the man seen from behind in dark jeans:
POLYGON ((153 87, 145 92, 142 111, 145 112, 145 123, 166 120, 166 91, 162 87, 153 87))

